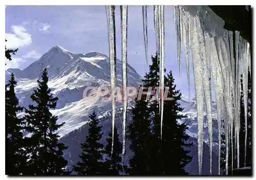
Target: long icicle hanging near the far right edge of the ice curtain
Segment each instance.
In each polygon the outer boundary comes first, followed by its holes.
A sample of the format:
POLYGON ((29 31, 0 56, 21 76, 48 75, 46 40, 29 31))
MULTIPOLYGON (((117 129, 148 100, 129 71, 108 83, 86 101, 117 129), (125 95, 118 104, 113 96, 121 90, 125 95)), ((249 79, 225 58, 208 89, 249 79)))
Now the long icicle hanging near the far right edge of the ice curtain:
MULTIPOLYGON (((245 40, 244 40, 245 41, 245 40)), ((248 54, 249 48, 243 41, 243 94, 244 94, 244 118, 245 118, 245 140, 244 140, 244 167, 246 166, 246 149, 247 149, 247 106, 248 106, 248 54)))

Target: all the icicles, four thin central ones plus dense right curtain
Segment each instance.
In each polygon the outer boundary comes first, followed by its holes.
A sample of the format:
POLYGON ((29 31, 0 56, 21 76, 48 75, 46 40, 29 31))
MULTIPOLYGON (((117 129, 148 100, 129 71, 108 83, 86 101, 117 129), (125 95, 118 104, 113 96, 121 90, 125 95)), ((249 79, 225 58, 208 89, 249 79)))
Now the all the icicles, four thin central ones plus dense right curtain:
MULTIPOLYGON (((125 128, 126 128, 126 111, 127 111, 127 6, 120 6, 121 14, 121 44, 122 44, 122 86, 123 86, 123 148, 122 163, 125 152, 125 128)), ((110 84, 111 91, 116 86, 116 33, 115 33, 115 6, 106 6, 109 30, 109 50, 110 50, 110 84)), ((205 15, 208 12, 205 13, 205 15)), ((209 32, 204 31, 202 24, 204 19, 199 15, 193 16, 185 11, 182 6, 175 6, 174 16, 177 32, 178 44, 178 64, 179 73, 181 74, 181 47, 185 53, 185 62, 187 69, 188 90, 190 98, 189 82, 189 64, 194 66, 194 79, 196 88, 197 102, 197 119, 198 119, 198 163, 199 174, 202 173, 203 158, 203 118, 204 118, 204 101, 206 102, 206 114, 209 131, 210 147, 210 174, 212 163, 212 107, 211 107, 211 77, 215 84, 215 95, 218 116, 219 132, 219 153, 218 153, 218 172, 220 174, 220 144, 221 144, 221 127, 222 119, 225 126, 226 142, 226 173, 228 170, 228 143, 229 133, 232 136, 232 129, 235 131, 235 146, 237 147, 237 161, 239 168, 239 131, 240 131, 240 74, 243 74, 244 100, 248 100, 248 66, 250 71, 250 45, 239 36, 239 32, 224 30, 221 37, 212 36, 209 32), (233 38, 234 37, 234 38, 233 38), (233 42, 235 39, 235 42, 233 42), (234 45, 233 45, 234 44, 234 45), (233 47, 235 48, 233 50, 233 47), (235 54, 233 54, 235 52, 235 54), (242 67, 242 69, 241 69, 242 67)), ((147 63, 147 6, 142 6, 143 32, 146 64, 147 63)), ((157 57, 160 64, 160 97, 163 97, 164 86, 164 6, 154 6, 154 26, 157 42, 157 57)), ((223 27, 220 27, 223 28, 223 27)), ((115 125, 115 99, 112 97, 112 151, 115 125)), ((245 134, 247 136, 247 103, 245 103, 245 134)), ((162 138, 162 120, 163 120, 163 99, 160 98, 159 110, 161 116, 161 138, 162 138)), ((245 138, 246 138, 245 136, 245 138)), ((245 147, 247 140, 245 139, 245 147)), ((231 147, 233 141, 231 138, 231 147)), ((233 156, 233 148, 232 153, 233 156)), ((245 148, 246 157, 246 148, 245 148)), ((233 158, 232 158, 233 169, 233 158)))

